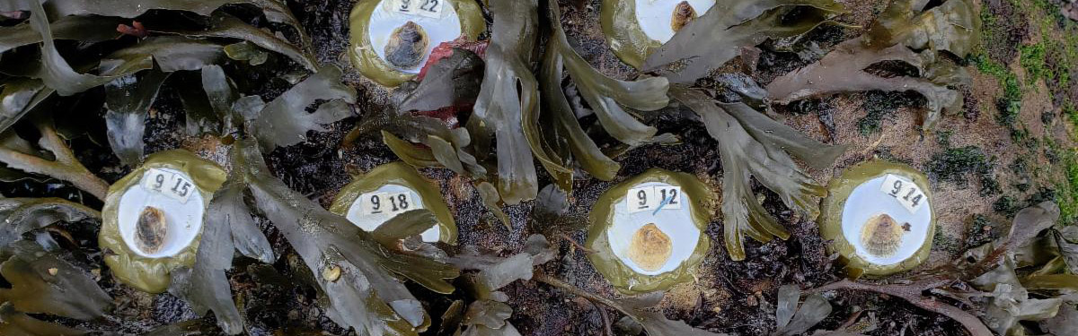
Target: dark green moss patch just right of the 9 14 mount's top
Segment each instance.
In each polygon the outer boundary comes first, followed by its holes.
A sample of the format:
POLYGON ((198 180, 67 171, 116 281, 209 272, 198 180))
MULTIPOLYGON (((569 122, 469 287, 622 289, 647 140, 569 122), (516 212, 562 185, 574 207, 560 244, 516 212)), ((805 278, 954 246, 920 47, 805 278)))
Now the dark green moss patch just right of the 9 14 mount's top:
POLYGON ((936 153, 926 164, 926 170, 940 181, 966 185, 969 174, 978 177, 991 174, 993 166, 983 150, 967 145, 936 153))

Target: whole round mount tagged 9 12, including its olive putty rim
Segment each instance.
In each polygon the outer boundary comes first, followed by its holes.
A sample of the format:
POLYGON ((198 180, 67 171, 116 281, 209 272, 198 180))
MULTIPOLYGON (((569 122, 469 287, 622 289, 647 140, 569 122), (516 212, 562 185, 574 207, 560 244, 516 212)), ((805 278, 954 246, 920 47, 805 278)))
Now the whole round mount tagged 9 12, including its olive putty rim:
POLYGON ((695 177, 649 169, 599 196, 589 215, 588 257, 625 294, 691 281, 710 248, 713 193, 695 177))

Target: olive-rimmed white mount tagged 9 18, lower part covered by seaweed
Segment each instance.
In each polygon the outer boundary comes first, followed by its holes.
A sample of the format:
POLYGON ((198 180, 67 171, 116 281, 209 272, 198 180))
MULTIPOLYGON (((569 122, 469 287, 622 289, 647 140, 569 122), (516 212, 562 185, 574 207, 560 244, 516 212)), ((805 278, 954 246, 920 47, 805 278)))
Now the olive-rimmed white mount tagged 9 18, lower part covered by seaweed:
POLYGON ((438 225, 419 235, 423 241, 456 243, 457 224, 440 187, 402 162, 374 167, 341 188, 330 206, 330 212, 368 232, 416 209, 430 210, 438 219, 438 225))

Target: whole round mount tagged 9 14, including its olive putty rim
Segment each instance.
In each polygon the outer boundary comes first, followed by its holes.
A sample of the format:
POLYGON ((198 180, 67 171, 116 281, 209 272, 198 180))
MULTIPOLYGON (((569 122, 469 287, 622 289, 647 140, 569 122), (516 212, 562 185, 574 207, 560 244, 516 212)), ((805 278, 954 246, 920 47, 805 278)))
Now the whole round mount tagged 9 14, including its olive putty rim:
POLYGON ((928 179, 910 166, 871 160, 831 180, 820 205, 820 235, 852 277, 886 276, 916 267, 936 230, 928 179))

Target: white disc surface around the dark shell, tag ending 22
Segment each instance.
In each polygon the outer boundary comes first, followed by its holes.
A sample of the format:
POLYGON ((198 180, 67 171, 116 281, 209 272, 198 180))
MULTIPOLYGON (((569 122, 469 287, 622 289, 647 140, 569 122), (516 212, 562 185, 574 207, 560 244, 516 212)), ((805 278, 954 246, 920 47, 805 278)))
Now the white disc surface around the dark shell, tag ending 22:
POLYGON ((423 65, 427 64, 427 58, 430 56, 431 50, 439 44, 442 44, 442 42, 448 42, 459 38, 460 19, 457 18, 457 11, 453 8, 453 4, 448 2, 448 0, 442 1, 444 1, 444 3, 441 4, 442 12, 439 17, 427 17, 392 12, 389 10, 389 5, 395 1, 389 0, 382 1, 382 3, 374 6, 374 11, 371 13, 370 25, 368 26, 368 38, 371 40, 371 47, 374 48, 374 53, 378 55, 378 58, 382 58, 382 60, 386 59, 386 44, 389 43, 389 36, 393 33, 393 29, 403 26, 410 20, 423 27, 423 30, 427 32, 427 37, 430 39, 430 43, 427 44, 427 51, 424 52, 423 60, 420 60, 419 65, 415 67, 402 69, 386 61, 387 65, 393 67, 398 71, 419 73, 419 70, 423 69, 423 65))

